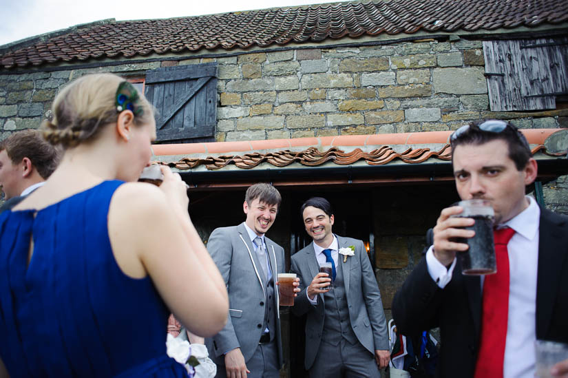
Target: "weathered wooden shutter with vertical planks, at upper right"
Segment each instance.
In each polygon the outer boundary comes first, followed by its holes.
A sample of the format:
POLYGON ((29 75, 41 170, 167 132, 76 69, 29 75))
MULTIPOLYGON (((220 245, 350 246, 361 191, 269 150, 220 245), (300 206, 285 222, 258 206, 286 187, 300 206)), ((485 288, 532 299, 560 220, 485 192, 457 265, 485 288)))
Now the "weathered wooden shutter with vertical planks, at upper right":
POLYGON ((483 42, 490 107, 555 109, 568 93, 568 38, 483 42))

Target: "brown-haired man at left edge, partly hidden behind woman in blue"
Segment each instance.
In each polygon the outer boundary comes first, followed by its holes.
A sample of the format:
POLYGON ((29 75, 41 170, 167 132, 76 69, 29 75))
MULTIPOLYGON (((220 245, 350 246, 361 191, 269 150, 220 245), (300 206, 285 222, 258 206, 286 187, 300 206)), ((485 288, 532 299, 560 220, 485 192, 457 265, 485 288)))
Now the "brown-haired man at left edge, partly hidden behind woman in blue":
POLYGON ((15 132, 0 143, 0 186, 7 200, 0 212, 11 209, 43 185, 59 164, 55 147, 37 130, 15 132))

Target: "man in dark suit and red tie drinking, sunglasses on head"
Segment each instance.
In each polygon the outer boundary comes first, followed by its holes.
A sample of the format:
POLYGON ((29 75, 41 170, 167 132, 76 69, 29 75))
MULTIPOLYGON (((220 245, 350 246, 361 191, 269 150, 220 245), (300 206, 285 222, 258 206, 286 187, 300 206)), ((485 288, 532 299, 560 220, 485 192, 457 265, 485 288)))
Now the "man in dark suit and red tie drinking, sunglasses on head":
MULTIPOLYGON (((497 273, 462 275, 456 251, 468 246, 456 238, 472 238, 465 227, 474 220, 452 217, 463 209, 448 207, 433 246, 395 295, 392 315, 403 334, 440 327, 439 377, 534 377, 534 341, 568 342, 568 217, 525 196, 537 165, 514 125, 478 121, 450 141, 459 196, 489 200, 496 243, 508 234, 496 251, 497 273)), ((568 360, 553 370, 566 374, 568 360)))

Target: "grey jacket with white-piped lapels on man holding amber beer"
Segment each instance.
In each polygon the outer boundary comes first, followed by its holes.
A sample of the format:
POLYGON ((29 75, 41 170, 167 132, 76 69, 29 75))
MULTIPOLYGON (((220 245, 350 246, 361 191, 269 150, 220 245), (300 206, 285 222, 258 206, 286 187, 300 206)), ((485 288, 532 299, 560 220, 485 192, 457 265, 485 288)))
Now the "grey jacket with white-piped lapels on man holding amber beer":
MULTIPOLYGON (((266 235, 264 241, 276 281, 277 273, 284 273, 284 249, 266 238, 266 235)), ((215 364, 224 365, 224 353, 240 348, 244 361, 249 361, 264 331, 264 306, 271 301, 277 314, 275 340, 278 346, 278 366, 282 366, 278 288, 274 286, 275 295, 269 299, 266 287, 262 284, 264 272, 260 266, 265 262, 260 262, 257 258, 244 223, 215 229, 209 236, 207 251, 221 272, 229 292, 227 325, 217 335, 205 340, 209 356, 215 364)))

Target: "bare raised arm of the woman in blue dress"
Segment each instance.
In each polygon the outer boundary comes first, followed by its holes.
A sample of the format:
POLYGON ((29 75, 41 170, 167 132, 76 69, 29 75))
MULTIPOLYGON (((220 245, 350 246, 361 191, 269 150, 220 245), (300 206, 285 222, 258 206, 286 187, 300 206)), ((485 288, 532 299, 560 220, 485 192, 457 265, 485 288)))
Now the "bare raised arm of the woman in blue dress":
POLYGON ((187 216, 187 196, 185 204, 179 204, 176 191, 169 192, 177 187, 185 195, 185 184, 168 174, 162 184, 167 196, 139 183, 116 190, 109 209, 113 253, 125 274, 151 277, 167 306, 192 333, 215 335, 227 321, 227 290, 187 216))

